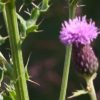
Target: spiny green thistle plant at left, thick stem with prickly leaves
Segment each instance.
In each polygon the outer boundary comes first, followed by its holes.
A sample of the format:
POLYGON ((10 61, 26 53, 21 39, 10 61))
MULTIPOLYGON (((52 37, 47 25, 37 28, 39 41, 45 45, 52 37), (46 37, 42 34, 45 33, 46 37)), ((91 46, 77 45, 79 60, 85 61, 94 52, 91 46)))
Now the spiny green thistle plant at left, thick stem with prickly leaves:
MULTIPOLYGON (((40 14, 46 12, 49 8, 49 0, 42 0, 39 5, 33 6, 31 11, 28 12, 29 19, 25 20, 16 11, 15 2, 17 0, 0 0, 0 12, 3 14, 8 33, 7 37, 0 37, 0 45, 9 38, 11 50, 10 62, 0 53, 0 88, 4 77, 7 76, 9 79, 8 83, 4 83, 5 90, 1 91, 0 100, 29 100, 26 81, 30 81, 30 77, 27 65, 24 66, 23 63, 21 45, 30 32, 38 31, 37 20, 40 14)), ((25 4, 25 1, 23 3, 25 4)), ((30 4, 34 3, 30 1, 30 4)))

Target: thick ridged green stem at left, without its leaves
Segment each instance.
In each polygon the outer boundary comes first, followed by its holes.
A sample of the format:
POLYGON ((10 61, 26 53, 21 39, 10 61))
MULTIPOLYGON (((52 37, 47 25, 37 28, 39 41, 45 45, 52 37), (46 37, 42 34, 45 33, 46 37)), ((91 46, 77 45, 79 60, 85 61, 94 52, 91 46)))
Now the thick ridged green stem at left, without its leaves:
POLYGON ((3 15, 10 39, 13 67, 14 67, 14 81, 16 90, 16 100, 29 100, 28 90, 25 78, 25 69, 23 65, 22 50, 20 44, 20 36, 18 30, 16 8, 14 0, 2 0, 8 2, 4 9, 3 15))

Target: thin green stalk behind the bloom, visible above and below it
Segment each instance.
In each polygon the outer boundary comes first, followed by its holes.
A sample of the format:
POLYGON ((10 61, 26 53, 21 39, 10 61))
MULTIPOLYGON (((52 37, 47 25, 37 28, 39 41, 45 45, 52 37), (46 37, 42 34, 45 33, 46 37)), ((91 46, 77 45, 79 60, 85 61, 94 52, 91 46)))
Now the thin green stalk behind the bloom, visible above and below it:
MULTIPOLYGON (((68 3, 69 3, 69 18, 73 18, 75 16, 75 11, 76 11, 76 2, 71 4, 69 0, 68 3)), ((71 52, 72 52, 72 45, 67 45, 59 100, 66 99, 66 95, 67 95, 66 91, 68 88, 68 77, 69 77, 70 61, 71 61, 71 52)))

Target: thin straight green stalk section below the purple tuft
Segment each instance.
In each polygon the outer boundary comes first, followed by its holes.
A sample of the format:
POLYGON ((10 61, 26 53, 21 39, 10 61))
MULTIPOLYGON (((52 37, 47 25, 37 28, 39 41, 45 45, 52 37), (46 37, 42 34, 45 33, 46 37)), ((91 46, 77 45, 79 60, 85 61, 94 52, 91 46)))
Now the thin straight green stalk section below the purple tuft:
POLYGON ((72 51, 72 46, 71 45, 67 46, 66 47, 65 62, 64 62, 64 69, 63 69, 62 84, 61 84, 61 91, 60 91, 59 100, 65 100, 65 98, 66 98, 66 90, 67 90, 67 85, 68 85, 68 75, 69 75, 71 51, 72 51))

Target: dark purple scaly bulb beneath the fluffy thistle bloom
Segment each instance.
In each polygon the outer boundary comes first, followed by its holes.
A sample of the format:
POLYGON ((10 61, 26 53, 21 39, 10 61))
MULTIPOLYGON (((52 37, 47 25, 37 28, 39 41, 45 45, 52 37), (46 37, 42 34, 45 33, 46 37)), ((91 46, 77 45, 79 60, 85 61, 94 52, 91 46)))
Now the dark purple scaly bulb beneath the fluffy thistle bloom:
POLYGON ((98 70, 98 60, 90 45, 73 45, 73 61, 77 71, 84 75, 93 75, 98 70))

